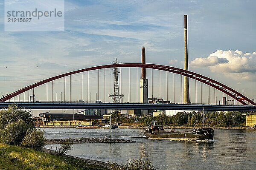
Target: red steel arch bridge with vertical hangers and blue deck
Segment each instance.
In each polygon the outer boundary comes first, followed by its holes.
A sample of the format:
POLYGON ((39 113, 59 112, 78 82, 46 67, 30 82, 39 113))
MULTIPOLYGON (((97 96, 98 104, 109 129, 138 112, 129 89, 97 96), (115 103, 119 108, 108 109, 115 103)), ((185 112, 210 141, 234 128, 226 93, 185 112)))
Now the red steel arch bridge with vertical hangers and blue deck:
MULTIPOLYGON (((122 73, 121 73, 122 74, 122 73)), ((83 74, 81 74, 82 77, 83 74)), ((168 78, 168 77, 167 77, 168 78)), ((153 79, 153 76, 152 76, 153 79)), ((166 80, 167 82, 168 80, 166 80)), ((175 80, 173 80, 175 82, 175 80)), ((130 80, 131 82, 131 80, 130 80)), ((65 83, 65 80, 64 80, 65 83)), ((81 82, 82 83, 82 82, 81 82)), ((105 84, 105 75, 104 75, 104 84, 105 84)), ((159 84, 160 84, 160 80, 159 80, 159 84)), ((167 98, 168 98, 168 82, 167 84, 167 98)), ((182 84, 182 82, 181 82, 182 84)), ((153 80, 152 80, 152 85, 153 85, 153 80)), ((174 84, 175 85, 175 84, 174 84)), ((131 83, 130 83, 131 86, 131 83)), ((64 85, 65 88, 65 85, 64 85)), ((153 89, 153 87, 152 87, 153 89)), ((181 85, 181 89, 182 89, 182 85, 181 85)), ((160 85, 159 85, 159 91, 160 91, 160 85)), ((104 89, 104 93, 105 93, 105 89, 104 89)), ((131 87, 130 87, 130 94, 131 94, 131 87)), ((181 92, 182 94, 182 92, 181 92)), ((48 95, 48 90, 47 90, 47 95, 48 95)), ((64 90, 64 95, 65 95, 65 90, 64 90)), ((82 85, 81 85, 81 95, 82 95, 82 85)), ((174 95, 175 95, 175 91, 174 91, 174 95)), ((196 92, 195 92, 196 95, 196 92)), ((210 95, 210 93, 209 93, 210 95)), ((214 95, 215 96, 215 95, 214 95)), ((182 96, 181 96, 182 97, 182 96)), ((81 97, 82 98, 82 97, 81 97)), ((105 94, 104 94, 104 98, 105 98, 105 94)), ((152 90, 152 98, 153 98, 153 90, 152 90)), ((201 97, 202 98, 202 97, 201 97)), ((175 67, 171 67, 171 66, 166 66, 166 65, 157 65, 157 64, 142 64, 142 63, 123 63, 123 64, 110 64, 110 65, 101 65, 101 66, 95 66, 95 67, 90 67, 90 68, 84 68, 84 69, 80 69, 77 71, 71 71, 65 74, 61 74, 58 76, 54 76, 54 77, 50 77, 48 79, 44 79, 42 81, 36 82, 32 85, 26 86, 24 88, 21 88, 11 94, 8 94, 6 96, 3 96, 0 99, 0 108, 6 108, 6 105, 8 105, 9 103, 13 103, 10 100, 13 99, 13 102, 17 103, 18 106, 23 107, 23 108, 58 108, 58 109, 64 109, 67 108, 67 106, 72 109, 72 108, 116 108, 116 109, 134 109, 134 108, 155 108, 155 109, 171 109, 171 110, 176 110, 176 109, 186 109, 186 110, 196 110, 198 107, 198 110, 201 108, 205 108, 207 110, 236 110, 236 111, 254 111, 255 110, 255 106, 256 103, 253 102, 253 100, 249 99, 248 97, 244 96, 243 94, 239 93, 238 91, 228 87, 227 85, 222 84, 221 82, 215 81, 214 79, 211 79, 209 77, 203 76, 201 74, 197 74, 195 72, 192 71, 186 71, 180 68, 175 68, 175 67), (160 79, 160 71, 166 71, 166 77, 167 77, 167 73, 171 72, 173 74, 179 74, 181 75, 181 81, 182 81, 182 76, 186 76, 189 77, 191 79, 195 79, 195 87, 196 87, 196 81, 201 82, 201 95, 202 95, 202 83, 204 83, 205 85, 209 86, 209 91, 210 91, 210 87, 214 88, 214 92, 215 89, 222 92, 222 94, 226 94, 227 96, 230 96, 233 101, 236 101, 238 103, 240 103, 240 105, 202 105, 203 103, 201 102, 201 105, 184 105, 182 103, 180 104, 147 104, 147 103, 137 103, 134 104, 132 102, 129 101, 129 103, 97 103, 97 105, 101 105, 101 106, 96 106, 96 104, 93 102, 89 102, 88 101, 88 74, 87 74, 87 102, 86 103, 77 103, 77 102, 71 102, 71 75, 73 74, 78 74, 78 73, 83 73, 86 72, 88 73, 88 71, 93 71, 93 70, 98 70, 98 95, 99 95, 99 69, 104 69, 104 74, 105 74, 105 69, 106 68, 130 68, 130 79, 131 79, 131 68, 149 68, 152 70, 152 75, 153 75, 153 69, 154 70, 159 70, 159 79, 160 79), (67 103, 67 101, 65 101, 65 96, 64 96, 64 102, 55 102, 53 103, 53 94, 52 94, 52 102, 38 102, 38 103, 33 103, 33 102, 25 102, 24 101, 24 93, 26 91, 28 91, 28 95, 29 95, 29 90, 44 85, 46 84, 48 87, 48 82, 52 82, 56 79, 61 79, 64 77, 64 79, 70 76, 70 101, 67 103), (20 102, 20 94, 23 94, 23 102, 20 102), (18 96, 19 99, 15 101, 15 96, 18 96), (9 102, 7 102, 9 100, 9 102), (48 105, 48 106, 47 106, 48 105), (169 105, 169 106, 168 106, 169 105), (159 108, 159 107, 160 108, 159 108), (240 107, 240 108, 239 108, 240 107), (212 109, 211 109, 212 108, 212 109), (248 109, 246 109, 248 108, 248 109), (250 108, 250 109, 249 109, 250 108)), ((16 98, 17 99, 17 98, 16 98)), ((210 97, 208 98, 210 99, 210 97)), ((48 100, 48 97, 47 97, 48 100)), ((201 99, 202 100, 202 99, 201 99)), ((104 99, 105 101, 105 99, 104 99)), ((215 101, 215 99, 214 99, 215 101)), ((210 104, 210 103, 208 103, 210 104)), ((216 104, 216 103, 215 103, 216 104)))

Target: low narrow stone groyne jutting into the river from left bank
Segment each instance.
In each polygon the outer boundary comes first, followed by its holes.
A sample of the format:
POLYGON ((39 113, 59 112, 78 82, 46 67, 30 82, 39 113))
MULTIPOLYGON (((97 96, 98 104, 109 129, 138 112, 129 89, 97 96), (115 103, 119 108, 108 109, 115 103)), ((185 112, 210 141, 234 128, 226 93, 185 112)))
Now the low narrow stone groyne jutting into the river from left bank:
POLYGON ((126 139, 109 139, 109 138, 68 138, 68 139, 47 139, 46 144, 63 144, 63 143, 133 143, 135 141, 126 139))

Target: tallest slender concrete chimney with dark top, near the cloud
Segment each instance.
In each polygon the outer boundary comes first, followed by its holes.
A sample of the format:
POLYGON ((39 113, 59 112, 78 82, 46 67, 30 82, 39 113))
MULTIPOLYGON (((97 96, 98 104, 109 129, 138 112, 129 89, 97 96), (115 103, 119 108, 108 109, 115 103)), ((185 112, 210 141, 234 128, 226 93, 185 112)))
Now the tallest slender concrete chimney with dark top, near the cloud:
MULTIPOLYGON (((184 15, 184 70, 189 70, 188 62, 188 21, 187 15, 184 15)), ((189 99, 189 77, 184 77, 184 97, 185 104, 191 104, 189 99)))

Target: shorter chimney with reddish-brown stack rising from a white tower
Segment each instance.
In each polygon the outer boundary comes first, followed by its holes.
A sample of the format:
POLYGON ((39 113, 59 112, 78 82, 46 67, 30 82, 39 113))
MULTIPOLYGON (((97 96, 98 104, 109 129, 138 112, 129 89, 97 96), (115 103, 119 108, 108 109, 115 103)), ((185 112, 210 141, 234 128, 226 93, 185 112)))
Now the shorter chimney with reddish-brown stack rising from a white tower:
MULTIPOLYGON (((141 62, 142 64, 146 63, 145 47, 143 47, 141 51, 141 62)), ((141 68, 140 102, 148 103, 148 79, 146 78, 146 68, 141 68)), ((141 115, 148 115, 148 110, 141 110, 141 115)))

